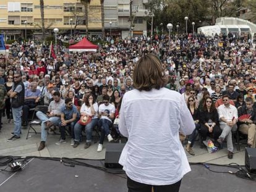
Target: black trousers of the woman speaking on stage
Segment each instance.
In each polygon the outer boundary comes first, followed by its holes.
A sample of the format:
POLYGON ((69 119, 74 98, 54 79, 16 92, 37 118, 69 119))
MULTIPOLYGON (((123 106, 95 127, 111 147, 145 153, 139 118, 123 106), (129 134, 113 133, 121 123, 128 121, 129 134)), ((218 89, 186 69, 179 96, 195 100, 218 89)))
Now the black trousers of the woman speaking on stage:
POLYGON ((181 186, 181 180, 172 185, 147 185, 139 182, 135 182, 127 177, 128 192, 151 192, 152 187, 154 192, 178 192, 181 186))

